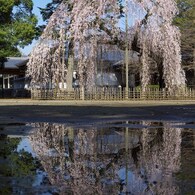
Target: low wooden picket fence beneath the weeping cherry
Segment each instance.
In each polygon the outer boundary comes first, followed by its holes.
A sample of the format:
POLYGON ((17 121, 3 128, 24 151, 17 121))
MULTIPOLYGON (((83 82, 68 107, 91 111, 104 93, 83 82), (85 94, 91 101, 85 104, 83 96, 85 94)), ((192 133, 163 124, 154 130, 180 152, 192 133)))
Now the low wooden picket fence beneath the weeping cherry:
POLYGON ((35 100, 195 100, 195 89, 185 88, 169 94, 165 89, 150 89, 145 92, 122 88, 97 88, 90 91, 83 89, 66 90, 31 90, 31 98, 35 100))

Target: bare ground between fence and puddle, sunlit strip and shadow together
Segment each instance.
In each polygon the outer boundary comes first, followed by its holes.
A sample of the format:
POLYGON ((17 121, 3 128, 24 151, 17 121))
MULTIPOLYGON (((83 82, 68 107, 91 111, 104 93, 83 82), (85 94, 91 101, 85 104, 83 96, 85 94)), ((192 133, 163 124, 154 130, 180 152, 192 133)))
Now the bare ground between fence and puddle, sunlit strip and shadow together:
POLYGON ((0 124, 95 123, 113 120, 195 122, 195 101, 33 101, 0 99, 0 124))

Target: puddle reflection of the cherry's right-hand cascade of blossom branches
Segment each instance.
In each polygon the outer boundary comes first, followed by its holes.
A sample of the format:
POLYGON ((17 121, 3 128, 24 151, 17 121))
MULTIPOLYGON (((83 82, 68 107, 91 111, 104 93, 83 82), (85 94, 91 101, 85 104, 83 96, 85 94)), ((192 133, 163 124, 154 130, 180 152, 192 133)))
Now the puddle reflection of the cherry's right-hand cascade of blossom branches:
POLYGON ((173 173, 180 168, 181 129, 163 123, 163 129, 142 130, 140 166, 148 183, 148 190, 157 194, 177 194, 173 173))

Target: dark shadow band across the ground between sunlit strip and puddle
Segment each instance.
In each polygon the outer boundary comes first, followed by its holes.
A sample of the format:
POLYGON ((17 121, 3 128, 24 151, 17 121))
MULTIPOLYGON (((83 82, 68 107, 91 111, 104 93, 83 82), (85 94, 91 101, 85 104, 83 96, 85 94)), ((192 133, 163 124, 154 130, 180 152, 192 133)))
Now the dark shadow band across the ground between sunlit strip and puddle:
POLYGON ((0 123, 14 122, 96 122, 100 120, 195 121, 191 105, 0 105, 0 123))

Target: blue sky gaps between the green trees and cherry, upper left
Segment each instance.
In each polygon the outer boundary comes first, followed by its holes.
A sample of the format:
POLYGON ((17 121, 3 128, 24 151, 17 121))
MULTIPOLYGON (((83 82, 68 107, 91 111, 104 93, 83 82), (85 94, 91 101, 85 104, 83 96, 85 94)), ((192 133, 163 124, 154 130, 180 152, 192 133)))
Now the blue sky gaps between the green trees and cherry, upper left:
MULTIPOLYGON (((41 14, 40 14, 38 7, 45 8, 45 6, 48 3, 51 3, 51 1, 52 0, 33 0, 33 3, 34 3, 33 13, 37 16, 38 21, 39 21, 39 23, 38 23, 39 25, 43 24, 43 20, 42 20, 42 17, 41 17, 41 14)), ((20 49, 20 51, 22 52, 23 55, 28 55, 31 52, 31 50, 35 44, 36 44, 36 41, 33 41, 33 43, 31 45, 28 45, 25 48, 20 49)))

